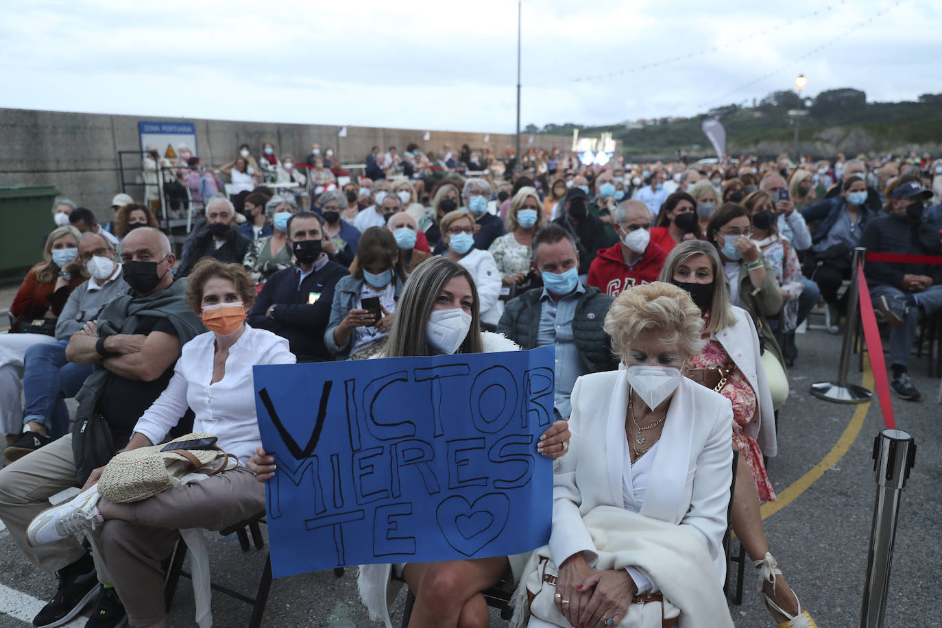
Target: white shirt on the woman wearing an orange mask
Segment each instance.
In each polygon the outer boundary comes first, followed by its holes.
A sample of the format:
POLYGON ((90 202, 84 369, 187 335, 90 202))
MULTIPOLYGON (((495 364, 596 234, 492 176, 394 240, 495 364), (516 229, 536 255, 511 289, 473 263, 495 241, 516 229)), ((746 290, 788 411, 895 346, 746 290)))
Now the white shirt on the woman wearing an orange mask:
POLYGON ((239 339, 229 347, 225 374, 211 384, 215 340, 216 334, 209 331, 183 346, 170 383, 141 415, 134 431, 151 443, 160 443, 189 407, 196 415, 193 431, 216 436, 219 448, 234 454, 244 467, 262 444, 255 416, 252 366, 293 364, 295 356, 281 336, 246 325, 239 339))

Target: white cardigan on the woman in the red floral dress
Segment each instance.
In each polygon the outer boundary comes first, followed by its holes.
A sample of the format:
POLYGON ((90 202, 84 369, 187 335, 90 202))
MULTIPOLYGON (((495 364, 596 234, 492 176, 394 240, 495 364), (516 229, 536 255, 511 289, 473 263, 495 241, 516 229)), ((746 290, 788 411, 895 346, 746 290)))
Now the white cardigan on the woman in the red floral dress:
POLYGON ((763 456, 772 458, 778 453, 778 440, 775 436, 775 411, 771 406, 769 380, 762 367, 762 354, 759 352, 759 337, 755 331, 753 317, 742 308, 731 306, 736 316, 736 324, 717 331, 713 337, 723 345, 729 357, 736 362, 739 372, 755 392, 756 408, 753 420, 742 430, 759 443, 763 456))

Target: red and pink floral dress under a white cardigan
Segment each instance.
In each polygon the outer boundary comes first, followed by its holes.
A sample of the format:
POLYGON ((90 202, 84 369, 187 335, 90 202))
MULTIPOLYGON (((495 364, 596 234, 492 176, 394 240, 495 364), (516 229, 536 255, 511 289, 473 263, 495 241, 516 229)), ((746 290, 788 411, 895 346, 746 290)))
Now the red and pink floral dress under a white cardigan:
MULTIPOLYGON (((706 330, 709 324, 709 314, 705 315, 704 318, 704 329, 706 330)), ((758 407, 755 391, 749 385, 749 381, 739 372, 739 368, 730 359, 723 345, 712 338, 707 331, 704 331, 702 338, 707 340, 707 346, 704 347, 700 355, 690 361, 690 368, 711 369, 722 366, 723 369, 732 369, 732 372, 726 377, 726 384, 720 389, 720 394, 733 404, 733 444, 739 449, 739 456, 746 459, 749 469, 753 472, 755 488, 759 493, 759 501, 774 502, 775 491, 771 488, 771 481, 769 481, 769 475, 766 473, 759 443, 756 443, 754 438, 742 431, 742 426, 752 420, 758 407)))

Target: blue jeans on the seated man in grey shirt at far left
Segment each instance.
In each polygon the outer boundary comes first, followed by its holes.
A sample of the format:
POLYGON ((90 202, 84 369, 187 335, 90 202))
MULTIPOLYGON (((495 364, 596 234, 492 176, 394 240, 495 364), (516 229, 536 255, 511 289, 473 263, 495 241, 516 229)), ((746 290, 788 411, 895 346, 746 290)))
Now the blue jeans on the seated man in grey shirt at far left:
POLYGON ((24 359, 23 423, 42 424, 54 439, 69 431, 66 397, 78 394, 92 370, 90 365, 65 359, 68 344, 68 340, 59 340, 51 345, 30 346, 24 359))

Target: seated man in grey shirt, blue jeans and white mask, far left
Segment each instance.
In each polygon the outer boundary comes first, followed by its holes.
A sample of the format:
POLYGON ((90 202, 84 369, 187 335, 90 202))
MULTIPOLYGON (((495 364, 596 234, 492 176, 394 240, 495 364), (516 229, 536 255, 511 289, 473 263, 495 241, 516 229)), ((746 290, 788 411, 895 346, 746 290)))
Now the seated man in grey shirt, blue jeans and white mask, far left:
POLYGON ((91 366, 68 362, 65 348, 69 338, 110 301, 128 290, 121 276, 122 267, 115 262, 115 250, 98 233, 83 233, 78 240, 78 259, 91 278, 80 283, 69 295, 56 323, 56 335, 7 334, 0 336, 0 408, 3 424, 14 425, 17 415, 23 433, 10 443, 5 457, 23 458, 26 454, 64 435, 69 427, 66 397, 75 396, 91 366), (14 344, 31 337, 19 361, 11 359, 14 344), (21 404, 20 395, 25 404, 21 404), (20 412, 22 410, 22 412, 20 412), (14 420, 10 420, 14 419, 14 420))

